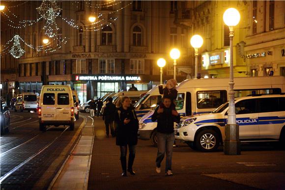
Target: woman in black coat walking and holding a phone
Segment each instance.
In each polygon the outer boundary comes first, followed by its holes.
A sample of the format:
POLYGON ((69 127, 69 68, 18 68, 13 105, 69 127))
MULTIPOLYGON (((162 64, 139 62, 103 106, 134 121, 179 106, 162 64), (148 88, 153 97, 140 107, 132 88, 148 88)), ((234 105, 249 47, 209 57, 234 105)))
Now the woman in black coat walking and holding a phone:
POLYGON ((138 143, 139 121, 133 107, 130 106, 130 98, 122 97, 117 104, 115 114, 116 127, 116 145, 120 146, 122 176, 127 176, 127 171, 131 175, 136 173, 133 171, 133 163, 136 154, 136 145, 138 143), (129 159, 127 170, 127 146, 129 146, 129 159))

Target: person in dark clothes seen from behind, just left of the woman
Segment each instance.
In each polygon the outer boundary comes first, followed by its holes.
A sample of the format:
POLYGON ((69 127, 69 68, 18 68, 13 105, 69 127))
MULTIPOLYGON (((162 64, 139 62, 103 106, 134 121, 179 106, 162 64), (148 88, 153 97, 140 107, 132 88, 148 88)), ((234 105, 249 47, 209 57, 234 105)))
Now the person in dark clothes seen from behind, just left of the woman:
POLYGON ((115 113, 116 113, 116 106, 113 104, 113 98, 108 99, 108 103, 106 104, 106 108, 103 112, 103 120, 105 120, 106 126, 106 136, 109 137, 109 126, 111 129, 112 137, 115 136, 114 133, 114 120, 115 120, 115 113))

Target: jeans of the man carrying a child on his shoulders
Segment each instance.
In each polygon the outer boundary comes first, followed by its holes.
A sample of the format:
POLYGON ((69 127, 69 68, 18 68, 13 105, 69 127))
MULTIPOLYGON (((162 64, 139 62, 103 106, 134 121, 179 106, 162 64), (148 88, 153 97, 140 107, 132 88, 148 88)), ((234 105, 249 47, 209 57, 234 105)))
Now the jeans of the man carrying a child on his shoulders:
POLYGON ((172 150, 174 143, 174 133, 157 133, 157 157, 156 166, 160 167, 166 152, 165 172, 171 170, 172 150))

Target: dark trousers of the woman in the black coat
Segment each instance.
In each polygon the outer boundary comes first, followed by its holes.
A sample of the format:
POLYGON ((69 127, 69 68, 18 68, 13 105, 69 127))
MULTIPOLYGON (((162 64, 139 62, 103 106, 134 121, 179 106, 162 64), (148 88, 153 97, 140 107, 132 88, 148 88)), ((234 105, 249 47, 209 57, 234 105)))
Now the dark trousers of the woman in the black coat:
MULTIPOLYGON (((121 151, 121 165, 122 165, 122 170, 126 171, 127 170, 127 146, 120 146, 120 151, 121 151)), ((128 160, 128 170, 133 170, 133 163, 135 161, 135 156, 136 156, 136 145, 129 145, 129 160, 128 160)))

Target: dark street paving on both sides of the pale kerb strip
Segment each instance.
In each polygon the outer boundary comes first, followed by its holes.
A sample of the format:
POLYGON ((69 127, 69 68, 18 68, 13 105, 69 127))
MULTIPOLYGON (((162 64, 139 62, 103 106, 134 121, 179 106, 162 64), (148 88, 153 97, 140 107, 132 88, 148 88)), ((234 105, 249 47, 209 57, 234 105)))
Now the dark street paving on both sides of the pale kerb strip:
MULTIPOLYGON (((79 126, 90 119, 87 116, 80 114, 74 131, 59 126, 40 132, 36 113, 11 111, 10 133, 0 137, 1 190, 48 189, 73 149, 79 126)), ((202 153, 177 141, 173 176, 166 177, 165 161, 162 172, 155 172, 157 148, 139 140, 137 174, 121 177, 119 147, 115 138, 105 137, 101 117, 94 118, 94 134, 89 190, 285 189, 285 151, 276 144, 242 144, 241 155, 228 156, 222 147, 202 153)))

